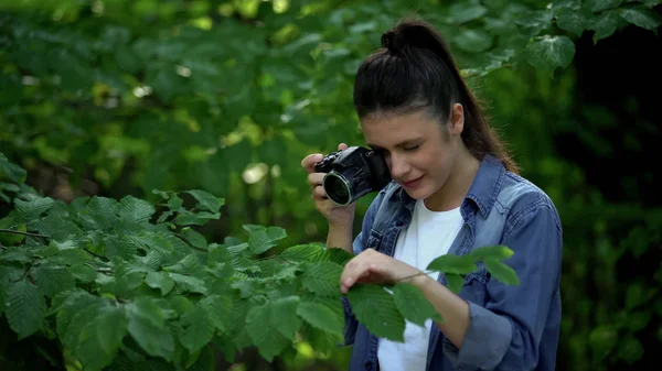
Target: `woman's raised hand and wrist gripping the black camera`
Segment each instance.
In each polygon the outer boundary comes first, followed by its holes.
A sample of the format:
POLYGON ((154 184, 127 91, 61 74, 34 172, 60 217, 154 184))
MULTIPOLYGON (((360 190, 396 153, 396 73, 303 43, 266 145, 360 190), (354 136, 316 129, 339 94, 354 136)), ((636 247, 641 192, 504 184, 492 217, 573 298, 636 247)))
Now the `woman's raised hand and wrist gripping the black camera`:
MULTIPOLYGON (((348 149, 345 143, 338 145, 339 151, 348 149)), ((351 228, 354 222, 354 210, 356 205, 354 203, 348 206, 338 206, 327 197, 324 187, 322 187, 322 181, 324 179, 325 173, 316 173, 314 164, 322 161, 324 156, 320 153, 309 154, 301 161, 301 166, 308 173, 308 183, 312 187, 312 199, 317 206, 317 209, 327 218, 329 226, 332 227, 346 227, 351 228)))

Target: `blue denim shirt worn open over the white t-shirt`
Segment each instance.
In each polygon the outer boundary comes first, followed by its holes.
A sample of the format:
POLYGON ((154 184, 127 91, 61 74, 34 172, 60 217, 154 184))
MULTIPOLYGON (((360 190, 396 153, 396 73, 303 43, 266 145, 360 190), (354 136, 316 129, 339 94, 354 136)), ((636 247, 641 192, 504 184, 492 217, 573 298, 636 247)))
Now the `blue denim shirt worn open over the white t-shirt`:
MULTIPOLYGON (((415 200, 391 183, 371 204, 353 243, 354 253, 375 249, 393 257, 401 230, 412 219, 415 200)), ((514 251, 504 263, 517 273, 520 285, 491 280, 481 268, 468 274, 459 293, 469 304, 469 328, 461 349, 433 325, 428 371, 552 371, 560 329, 562 225, 549 197, 531 182, 506 172, 488 155, 460 211, 465 223, 449 253, 503 244, 514 251)), ((446 285, 444 274, 439 282, 446 285)), ((380 339, 359 324, 349 302, 344 341, 353 345, 350 371, 377 371, 380 339)), ((406 370, 403 370, 406 371, 406 370)))

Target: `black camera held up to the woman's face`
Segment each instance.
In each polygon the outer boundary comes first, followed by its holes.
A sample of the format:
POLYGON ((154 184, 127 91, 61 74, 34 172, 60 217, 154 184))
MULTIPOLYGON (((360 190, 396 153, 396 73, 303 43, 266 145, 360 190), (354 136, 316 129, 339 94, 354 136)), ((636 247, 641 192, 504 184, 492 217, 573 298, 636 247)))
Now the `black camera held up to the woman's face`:
POLYGON ((339 206, 346 206, 364 195, 381 190, 391 182, 384 156, 362 146, 329 153, 314 165, 318 173, 327 173, 322 182, 327 197, 339 206))

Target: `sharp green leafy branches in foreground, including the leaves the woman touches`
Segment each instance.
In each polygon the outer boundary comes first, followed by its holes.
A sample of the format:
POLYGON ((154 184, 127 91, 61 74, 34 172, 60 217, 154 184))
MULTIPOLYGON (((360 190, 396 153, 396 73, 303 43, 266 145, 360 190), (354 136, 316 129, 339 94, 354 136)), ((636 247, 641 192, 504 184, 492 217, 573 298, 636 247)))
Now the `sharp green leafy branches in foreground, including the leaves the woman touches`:
MULTIPOLYGON (((305 324, 342 341, 339 283, 351 254, 311 244, 260 259, 286 232, 256 225, 244 226, 248 242, 207 243, 178 217, 217 214, 223 203, 202 190, 191 194, 197 204, 184 209, 178 203, 172 222, 152 221, 173 210, 174 194, 157 205, 132 196, 66 205, 15 195, 0 230, 17 231, 14 220, 26 230, 24 239, 0 244, 0 304, 15 340, 54 331, 62 354, 71 353, 68 362, 85 370, 120 367, 132 354, 188 369, 212 343, 231 352, 255 346, 273 361, 297 342, 305 324), (52 217, 68 222, 71 233, 41 234, 55 228, 52 217)), ((481 258, 510 255, 498 249, 481 249, 481 258)), ((442 320, 407 283, 396 284, 393 294, 381 285, 356 285, 348 298, 356 318, 388 339, 404 340, 405 318, 442 320)))

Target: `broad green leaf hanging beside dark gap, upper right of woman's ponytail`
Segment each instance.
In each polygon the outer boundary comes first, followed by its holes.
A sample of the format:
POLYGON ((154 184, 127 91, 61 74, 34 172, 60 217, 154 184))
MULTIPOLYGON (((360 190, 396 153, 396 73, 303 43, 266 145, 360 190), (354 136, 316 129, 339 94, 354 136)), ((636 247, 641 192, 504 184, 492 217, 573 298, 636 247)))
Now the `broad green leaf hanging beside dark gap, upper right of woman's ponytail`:
POLYGON ((575 44, 566 36, 545 35, 526 45, 526 61, 548 75, 557 67, 567 67, 574 56, 575 44))

